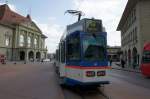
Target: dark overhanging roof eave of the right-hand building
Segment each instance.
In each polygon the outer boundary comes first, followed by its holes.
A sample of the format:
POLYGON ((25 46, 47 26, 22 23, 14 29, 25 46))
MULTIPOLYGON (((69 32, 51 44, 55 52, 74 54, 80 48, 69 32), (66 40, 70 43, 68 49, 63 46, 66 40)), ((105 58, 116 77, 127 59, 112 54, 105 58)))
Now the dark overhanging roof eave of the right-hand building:
POLYGON ((129 15, 129 13, 132 11, 133 7, 137 4, 138 1, 141 1, 141 0, 128 0, 128 3, 126 5, 126 7, 125 7, 125 10, 124 10, 124 12, 122 14, 122 17, 120 19, 119 25, 117 27, 118 31, 122 29, 122 27, 123 27, 123 25, 124 25, 128 15, 129 15))

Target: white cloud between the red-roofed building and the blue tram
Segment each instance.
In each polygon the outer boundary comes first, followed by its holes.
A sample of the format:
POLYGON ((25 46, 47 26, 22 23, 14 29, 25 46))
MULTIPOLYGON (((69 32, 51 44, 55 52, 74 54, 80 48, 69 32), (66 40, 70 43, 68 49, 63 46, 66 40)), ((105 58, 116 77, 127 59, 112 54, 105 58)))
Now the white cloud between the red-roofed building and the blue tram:
POLYGON ((43 34, 45 34, 48 38, 46 39, 46 46, 48 48, 48 52, 54 53, 56 48, 58 47, 58 43, 64 31, 64 27, 54 23, 56 18, 50 17, 48 18, 48 23, 40 23, 38 21, 34 22, 39 26, 42 30, 43 34))

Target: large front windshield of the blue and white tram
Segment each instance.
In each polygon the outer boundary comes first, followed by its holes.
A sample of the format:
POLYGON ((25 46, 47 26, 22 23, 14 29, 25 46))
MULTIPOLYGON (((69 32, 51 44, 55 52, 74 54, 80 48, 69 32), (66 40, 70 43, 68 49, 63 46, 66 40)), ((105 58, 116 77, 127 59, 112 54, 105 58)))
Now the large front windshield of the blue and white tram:
POLYGON ((105 38, 85 36, 83 38, 83 56, 88 61, 103 61, 105 57, 105 38))

